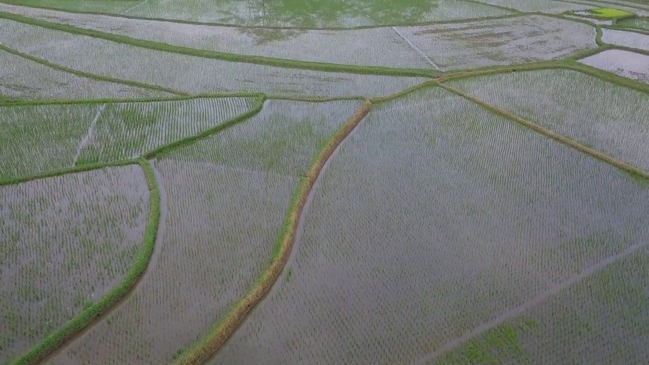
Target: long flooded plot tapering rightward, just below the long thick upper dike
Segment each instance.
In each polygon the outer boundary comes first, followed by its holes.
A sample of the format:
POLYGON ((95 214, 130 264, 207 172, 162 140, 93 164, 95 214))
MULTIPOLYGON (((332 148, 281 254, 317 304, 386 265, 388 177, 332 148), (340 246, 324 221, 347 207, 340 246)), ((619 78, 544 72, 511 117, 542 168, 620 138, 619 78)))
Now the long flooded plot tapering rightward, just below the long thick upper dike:
POLYGON ((0 42, 80 71, 145 82, 190 93, 267 92, 282 95, 389 95, 425 81, 288 69, 153 51, 0 20, 0 42))

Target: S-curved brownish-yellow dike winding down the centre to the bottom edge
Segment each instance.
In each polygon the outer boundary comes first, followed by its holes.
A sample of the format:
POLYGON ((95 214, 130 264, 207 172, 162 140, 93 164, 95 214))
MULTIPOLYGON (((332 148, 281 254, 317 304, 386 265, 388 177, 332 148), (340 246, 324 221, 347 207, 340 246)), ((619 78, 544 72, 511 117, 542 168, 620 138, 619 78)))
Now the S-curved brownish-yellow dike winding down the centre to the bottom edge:
POLYGON ((313 189, 315 181, 321 173, 326 160, 331 157, 338 145, 349 136, 358 123, 365 118, 371 110, 371 106, 371 101, 366 99, 365 103, 354 112, 349 120, 341 125, 332 138, 324 145, 323 149, 315 155, 309 171, 300 177, 300 183, 291 198, 291 204, 286 212, 286 218, 280 230, 280 235, 275 247, 273 247, 271 264, 263 272, 262 277, 245 297, 239 300, 234 307, 230 308, 228 315, 223 320, 219 321, 196 346, 184 351, 180 358, 173 362, 173 365, 199 365, 209 359, 232 333, 234 333, 248 312, 259 303, 268 290, 270 290, 271 286, 277 281, 282 270, 284 270, 286 261, 293 248, 297 226, 308 195, 313 189))

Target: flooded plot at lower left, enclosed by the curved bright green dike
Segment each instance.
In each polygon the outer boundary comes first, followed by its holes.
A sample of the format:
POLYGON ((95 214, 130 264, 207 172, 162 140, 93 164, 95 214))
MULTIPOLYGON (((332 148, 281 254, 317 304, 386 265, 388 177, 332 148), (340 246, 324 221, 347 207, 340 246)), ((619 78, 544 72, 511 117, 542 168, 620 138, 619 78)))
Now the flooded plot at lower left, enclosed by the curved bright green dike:
POLYGON ((0 363, 121 281, 141 247, 148 210, 139 166, 0 187, 0 363))

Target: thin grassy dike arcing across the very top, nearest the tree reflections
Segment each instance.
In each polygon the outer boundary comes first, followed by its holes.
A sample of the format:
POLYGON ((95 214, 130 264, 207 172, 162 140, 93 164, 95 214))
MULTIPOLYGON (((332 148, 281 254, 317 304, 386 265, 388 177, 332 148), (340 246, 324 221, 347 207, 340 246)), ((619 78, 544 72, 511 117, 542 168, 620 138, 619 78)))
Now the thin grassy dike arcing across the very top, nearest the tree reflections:
MULTIPOLYGON (((450 23, 465 23, 468 21, 480 21, 480 20, 491 20, 491 19, 506 19, 513 18, 515 16, 520 16, 521 14, 528 14, 525 12, 518 12, 518 10, 506 8, 507 10, 513 12, 513 14, 506 14, 501 16, 482 16, 478 18, 471 19, 450 19, 450 20, 434 20, 434 21, 420 21, 415 23, 382 23, 376 25, 356 25, 354 27, 321 27, 321 28, 304 28, 304 27, 276 27, 269 25, 239 25, 231 23, 215 23, 208 21, 193 21, 193 20, 182 20, 182 19, 169 19, 169 18, 151 18, 144 16, 132 16, 127 14, 117 14, 117 13, 108 13, 108 12, 93 12, 91 10, 71 10, 63 8, 55 8, 52 6, 42 6, 42 5, 23 5, 21 1, 16 0, 0 0, 0 3, 7 5, 17 5, 25 8, 34 8, 34 9, 43 9, 43 10, 53 10, 57 12, 64 12, 70 14, 86 14, 86 15, 96 15, 96 16, 110 16, 111 18, 123 18, 123 19, 133 19, 133 20, 145 20, 145 21, 162 21, 165 23, 177 23, 177 24, 188 24, 188 25, 204 25, 208 27, 228 27, 228 28, 242 28, 242 29, 295 29, 297 31, 353 31, 357 29, 374 29, 374 28, 383 28, 383 27, 418 27, 424 25, 435 25, 435 24, 450 24, 450 23)), ((487 5, 482 3, 483 5, 487 5)), ((494 7, 500 7, 498 5, 489 5, 494 7)))

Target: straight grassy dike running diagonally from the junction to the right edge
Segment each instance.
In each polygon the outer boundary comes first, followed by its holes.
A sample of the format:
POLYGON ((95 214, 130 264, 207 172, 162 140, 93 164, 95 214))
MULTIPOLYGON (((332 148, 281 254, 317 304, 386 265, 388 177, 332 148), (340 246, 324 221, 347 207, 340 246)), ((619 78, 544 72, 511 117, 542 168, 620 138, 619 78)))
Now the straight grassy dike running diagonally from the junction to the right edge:
POLYGON ((586 155, 590 155, 591 157, 597 158, 598 160, 602 160, 606 162, 607 164, 618 168, 622 171, 625 171, 627 173, 630 173, 630 175, 636 179, 641 179, 649 183, 649 172, 641 170, 639 168, 636 168, 635 166, 632 166, 631 164, 627 164, 626 162, 622 162, 621 160, 618 160, 617 158, 611 157, 609 155, 606 155, 605 153, 602 153, 600 151, 596 151, 595 149, 592 149, 591 147, 587 147, 583 144, 580 144, 576 140, 573 140, 572 138, 568 138, 567 136, 563 136, 561 134, 555 133, 550 131, 549 129, 545 129, 541 127, 540 125, 537 125, 535 123, 532 123, 531 121, 525 120, 523 118, 520 118, 519 116, 512 114, 511 112, 508 112, 507 110, 495 107, 493 105, 490 105, 486 103, 485 101, 482 101, 478 99, 477 97, 474 97, 472 95, 469 95, 465 92, 461 92, 460 90, 456 88, 452 88, 451 86, 448 86, 443 83, 439 83, 439 86, 448 92, 452 92, 453 94, 456 94, 458 96, 461 96, 472 103, 476 103, 480 105, 481 107, 489 110, 490 112, 499 114, 500 116, 504 116, 508 118, 509 120, 515 121, 519 123, 520 125, 523 125, 524 127, 527 127, 528 129, 532 129, 532 131, 537 132, 539 134, 543 134, 543 136, 546 136, 548 138, 552 138, 553 140, 556 140, 557 142, 567 145, 568 147, 572 149, 576 149, 577 151, 580 151, 582 153, 585 153, 586 155))

